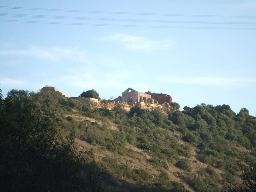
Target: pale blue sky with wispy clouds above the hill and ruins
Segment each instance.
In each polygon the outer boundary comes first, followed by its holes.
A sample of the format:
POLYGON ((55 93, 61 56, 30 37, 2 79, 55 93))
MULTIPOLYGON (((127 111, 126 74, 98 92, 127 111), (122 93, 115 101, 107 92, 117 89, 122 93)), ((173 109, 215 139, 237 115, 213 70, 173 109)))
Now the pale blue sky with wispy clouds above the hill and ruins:
POLYGON ((228 104, 236 113, 241 108, 247 108, 251 115, 256 115, 256 30, 244 29, 256 29, 255 0, 10 0, 1 1, 0 6, 87 11, 0 7, 0 88, 5 95, 12 88, 37 92, 49 85, 69 97, 95 89, 101 98, 108 99, 118 97, 131 87, 139 92, 171 95, 181 109, 200 103, 214 106, 228 104), (11 17, 10 14, 44 15, 44 18, 11 17), (45 16, 91 20, 51 19, 45 16), (6 20, 179 28, 18 23, 6 20))

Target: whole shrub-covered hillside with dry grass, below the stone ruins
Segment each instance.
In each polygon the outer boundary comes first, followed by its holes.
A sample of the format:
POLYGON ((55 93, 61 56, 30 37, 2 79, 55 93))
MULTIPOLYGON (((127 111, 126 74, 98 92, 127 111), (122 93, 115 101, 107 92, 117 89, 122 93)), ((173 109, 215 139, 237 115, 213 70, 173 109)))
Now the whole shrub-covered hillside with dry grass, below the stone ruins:
POLYGON ((11 90, 0 98, 1 188, 255 191, 256 117, 228 105, 179 108, 92 109, 56 92, 11 90))

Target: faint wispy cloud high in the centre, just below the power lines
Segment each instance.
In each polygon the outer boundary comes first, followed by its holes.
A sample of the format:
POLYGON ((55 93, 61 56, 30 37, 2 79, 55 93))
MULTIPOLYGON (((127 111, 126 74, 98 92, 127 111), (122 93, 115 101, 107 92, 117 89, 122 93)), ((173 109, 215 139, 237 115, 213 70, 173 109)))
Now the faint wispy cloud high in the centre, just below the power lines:
POLYGON ((116 41, 127 49, 134 51, 155 51, 169 50, 175 42, 170 39, 152 40, 143 36, 132 36, 125 34, 114 34, 111 36, 101 37, 100 41, 116 41))

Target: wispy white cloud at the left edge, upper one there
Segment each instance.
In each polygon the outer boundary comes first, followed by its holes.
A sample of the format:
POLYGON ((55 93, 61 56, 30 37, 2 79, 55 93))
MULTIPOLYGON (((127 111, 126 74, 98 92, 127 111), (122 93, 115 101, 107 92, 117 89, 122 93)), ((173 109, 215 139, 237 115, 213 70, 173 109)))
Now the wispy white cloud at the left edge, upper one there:
POLYGON ((0 55, 11 55, 20 57, 36 57, 39 59, 61 60, 70 59, 85 62, 85 52, 78 48, 62 48, 62 47, 37 47, 30 46, 25 50, 0 50, 0 55))

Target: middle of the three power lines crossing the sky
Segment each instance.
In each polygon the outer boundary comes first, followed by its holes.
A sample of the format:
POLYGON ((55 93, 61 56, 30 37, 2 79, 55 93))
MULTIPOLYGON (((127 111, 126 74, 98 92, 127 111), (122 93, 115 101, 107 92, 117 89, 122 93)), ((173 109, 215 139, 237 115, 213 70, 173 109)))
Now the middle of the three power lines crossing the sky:
POLYGON ((54 15, 32 15, 0 13, 6 17, 44 18, 44 19, 68 19, 68 20, 99 20, 99 21, 124 21, 124 22, 151 22, 151 23, 192 23, 192 24, 235 24, 235 25, 256 25, 255 22, 227 22, 227 21, 186 21, 186 20, 142 20, 142 19, 117 19, 117 18, 93 18, 93 17, 71 17, 54 15))

